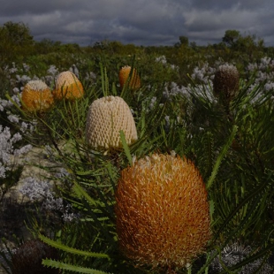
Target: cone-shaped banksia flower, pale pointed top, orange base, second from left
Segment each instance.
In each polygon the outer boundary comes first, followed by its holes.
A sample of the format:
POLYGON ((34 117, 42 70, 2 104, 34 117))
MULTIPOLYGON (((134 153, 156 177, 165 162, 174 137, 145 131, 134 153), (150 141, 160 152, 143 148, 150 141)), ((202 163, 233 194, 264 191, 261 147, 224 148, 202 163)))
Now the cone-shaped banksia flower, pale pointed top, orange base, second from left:
POLYGON ((84 95, 84 88, 73 72, 61 72, 57 76, 53 94, 58 100, 75 100, 84 95))

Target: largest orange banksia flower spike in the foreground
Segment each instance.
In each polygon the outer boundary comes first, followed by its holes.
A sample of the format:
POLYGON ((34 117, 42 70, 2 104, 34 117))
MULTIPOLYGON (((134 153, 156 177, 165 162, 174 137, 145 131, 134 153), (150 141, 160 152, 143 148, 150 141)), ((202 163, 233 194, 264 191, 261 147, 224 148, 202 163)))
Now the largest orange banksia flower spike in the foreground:
POLYGON ((202 177, 179 156, 146 156, 121 172, 116 192, 118 243, 137 264, 175 270, 210 238, 202 177))

